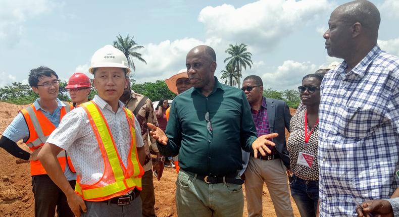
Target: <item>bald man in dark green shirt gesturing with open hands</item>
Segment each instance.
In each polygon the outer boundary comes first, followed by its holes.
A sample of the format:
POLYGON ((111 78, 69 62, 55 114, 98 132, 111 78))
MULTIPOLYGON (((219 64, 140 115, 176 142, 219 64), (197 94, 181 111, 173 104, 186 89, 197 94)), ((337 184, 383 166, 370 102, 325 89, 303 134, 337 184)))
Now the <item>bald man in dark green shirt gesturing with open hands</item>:
POLYGON ((257 138, 244 93, 214 76, 216 55, 211 47, 192 48, 186 68, 194 88, 173 99, 165 133, 147 124, 161 153, 179 154, 177 214, 241 217, 241 148, 265 155, 270 153, 266 144, 274 145, 268 138, 278 134, 257 138))

